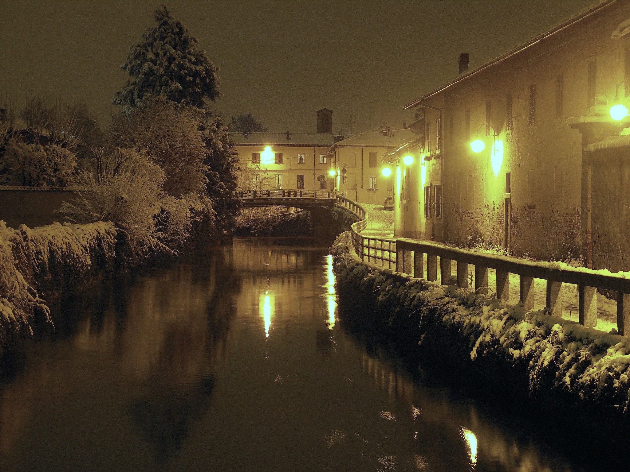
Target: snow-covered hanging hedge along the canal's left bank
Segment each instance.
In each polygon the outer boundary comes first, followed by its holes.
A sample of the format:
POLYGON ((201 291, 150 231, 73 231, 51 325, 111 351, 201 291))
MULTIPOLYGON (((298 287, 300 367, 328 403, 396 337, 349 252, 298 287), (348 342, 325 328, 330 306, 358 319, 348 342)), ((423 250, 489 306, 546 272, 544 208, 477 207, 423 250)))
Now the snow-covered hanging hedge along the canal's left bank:
POLYGON ((109 222, 14 230, 0 221, 0 351, 32 335, 34 325, 52 324, 45 302, 110 276, 116 249, 109 222))

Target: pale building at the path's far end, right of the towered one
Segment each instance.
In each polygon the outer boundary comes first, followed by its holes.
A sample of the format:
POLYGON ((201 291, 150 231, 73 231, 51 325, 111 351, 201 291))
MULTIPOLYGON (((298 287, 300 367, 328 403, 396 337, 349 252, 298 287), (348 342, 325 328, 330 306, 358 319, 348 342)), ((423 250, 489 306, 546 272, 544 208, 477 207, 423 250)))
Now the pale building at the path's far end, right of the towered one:
POLYGON ((382 205, 393 194, 394 179, 381 173, 382 157, 413 136, 407 128, 394 129, 384 124, 333 144, 329 152, 338 166, 340 191, 358 203, 382 205))

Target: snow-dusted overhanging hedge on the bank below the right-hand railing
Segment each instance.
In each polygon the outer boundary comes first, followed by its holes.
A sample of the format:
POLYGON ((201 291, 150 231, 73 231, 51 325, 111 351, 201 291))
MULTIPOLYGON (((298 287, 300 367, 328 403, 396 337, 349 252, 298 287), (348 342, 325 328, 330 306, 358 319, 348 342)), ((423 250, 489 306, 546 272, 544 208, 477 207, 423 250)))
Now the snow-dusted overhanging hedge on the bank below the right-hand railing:
POLYGON ((469 364, 480 378, 517 388, 547 410, 627 439, 629 338, 454 285, 379 271, 351 247, 343 233, 332 248, 338 293, 359 291, 377 323, 415 339, 423 354, 469 364))

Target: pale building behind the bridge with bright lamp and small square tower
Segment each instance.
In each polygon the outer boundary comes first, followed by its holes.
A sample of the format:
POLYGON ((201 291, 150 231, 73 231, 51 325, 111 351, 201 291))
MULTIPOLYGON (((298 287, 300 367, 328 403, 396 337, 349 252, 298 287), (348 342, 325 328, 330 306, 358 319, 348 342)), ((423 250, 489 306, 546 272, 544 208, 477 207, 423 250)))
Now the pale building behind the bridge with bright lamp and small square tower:
POLYGON ((239 156, 241 189, 335 189, 332 111, 318 111, 318 133, 229 133, 239 156), (319 132, 324 130, 322 132, 319 132))

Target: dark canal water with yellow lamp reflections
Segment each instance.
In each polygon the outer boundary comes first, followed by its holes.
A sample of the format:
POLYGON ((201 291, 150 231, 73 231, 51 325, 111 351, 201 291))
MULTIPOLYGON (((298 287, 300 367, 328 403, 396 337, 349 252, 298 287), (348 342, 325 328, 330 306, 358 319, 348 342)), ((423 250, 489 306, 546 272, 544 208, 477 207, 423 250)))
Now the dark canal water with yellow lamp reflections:
POLYGON ((602 469, 571 430, 350 332, 327 254, 237 239, 54 307, 55 334, 2 361, 0 468, 602 469))

